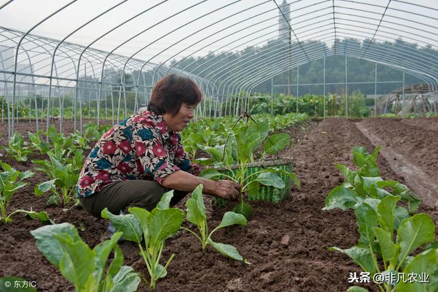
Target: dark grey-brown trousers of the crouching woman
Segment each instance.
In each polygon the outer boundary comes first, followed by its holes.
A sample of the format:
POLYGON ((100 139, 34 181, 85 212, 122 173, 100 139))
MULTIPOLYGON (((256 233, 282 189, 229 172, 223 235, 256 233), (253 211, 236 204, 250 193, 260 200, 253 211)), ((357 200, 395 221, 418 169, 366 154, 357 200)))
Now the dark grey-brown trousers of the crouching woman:
MULTIPOLYGON (((101 218, 101 211, 105 208, 116 215, 120 210, 127 214, 129 207, 151 211, 167 191, 170 189, 153 180, 123 180, 104 186, 101 191, 89 197, 80 197, 79 201, 88 213, 101 218)), ((174 191, 170 205, 177 204, 187 194, 184 191, 174 191)))

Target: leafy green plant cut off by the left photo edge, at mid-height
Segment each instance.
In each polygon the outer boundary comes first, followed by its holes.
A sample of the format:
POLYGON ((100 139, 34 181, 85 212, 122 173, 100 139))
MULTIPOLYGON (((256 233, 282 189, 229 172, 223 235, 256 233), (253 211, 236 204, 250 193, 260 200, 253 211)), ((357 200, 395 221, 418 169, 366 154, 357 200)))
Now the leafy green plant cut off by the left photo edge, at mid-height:
POLYGON ((23 186, 27 184, 23 182, 23 180, 30 178, 34 173, 30 170, 24 172, 17 171, 5 162, 0 162, 0 165, 3 169, 0 173, 0 221, 8 223, 11 220, 9 216, 6 215, 6 209, 12 199, 12 195, 14 195, 18 189, 23 188, 23 186))

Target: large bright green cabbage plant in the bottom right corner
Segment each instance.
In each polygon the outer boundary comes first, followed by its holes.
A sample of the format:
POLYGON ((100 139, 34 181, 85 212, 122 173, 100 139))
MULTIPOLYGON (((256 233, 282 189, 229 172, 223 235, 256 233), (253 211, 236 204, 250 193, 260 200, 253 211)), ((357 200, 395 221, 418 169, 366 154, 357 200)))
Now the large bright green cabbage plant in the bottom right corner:
MULTIPOLYGON (((339 247, 330 247, 329 250, 335 250, 350 256, 363 271, 370 273, 371 278, 376 273, 383 273, 391 274, 392 276, 388 276, 388 278, 392 279, 402 272, 407 279, 409 272, 412 272, 413 269, 417 269, 420 274, 426 272, 425 269, 428 267, 430 276, 435 276, 434 287, 436 288, 438 284, 436 278, 438 276, 438 270, 436 269, 437 254, 424 255, 417 258, 417 260, 410 256, 422 245, 435 240, 435 223, 426 214, 415 214, 411 217, 408 215, 407 218, 400 221, 396 206, 399 200, 400 196, 364 199, 355 208, 360 234, 359 243, 346 250, 339 247), (395 231, 396 241, 394 242, 395 231), (379 264, 379 259, 381 259, 381 264, 379 264), (422 261, 424 266, 417 263, 417 261, 422 261)), ((413 289, 417 284, 419 283, 409 285, 389 281, 379 284, 379 289, 387 292, 436 291, 427 289, 425 284, 416 287, 421 289, 413 289), (399 289, 399 287, 403 288, 399 289)))

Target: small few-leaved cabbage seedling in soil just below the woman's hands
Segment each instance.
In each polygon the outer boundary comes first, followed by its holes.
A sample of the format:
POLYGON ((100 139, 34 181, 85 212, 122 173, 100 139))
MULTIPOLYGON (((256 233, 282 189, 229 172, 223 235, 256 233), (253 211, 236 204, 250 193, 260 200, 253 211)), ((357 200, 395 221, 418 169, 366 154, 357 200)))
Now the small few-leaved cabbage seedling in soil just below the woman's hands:
MULTIPOLYGON (((226 212, 219 226, 209 232, 207 226, 207 215, 205 214, 202 184, 196 186, 196 188, 192 192, 192 197, 188 199, 188 201, 185 203, 185 206, 187 206, 187 220, 198 227, 199 235, 188 228, 181 228, 194 234, 194 236, 196 236, 196 238, 201 241, 203 252, 205 252, 205 248, 207 247, 207 245, 211 245, 215 250, 217 250, 224 256, 229 256, 230 258, 233 258, 235 260, 244 260, 244 258, 239 254, 237 249, 233 247, 233 245, 216 243, 213 241, 213 239, 211 239, 211 236, 214 234, 214 232, 216 232, 220 228, 224 228, 234 224, 246 226, 246 218, 244 217, 244 215, 236 214, 235 212, 226 212)), ((248 263, 246 260, 244 261, 245 263, 248 263)))

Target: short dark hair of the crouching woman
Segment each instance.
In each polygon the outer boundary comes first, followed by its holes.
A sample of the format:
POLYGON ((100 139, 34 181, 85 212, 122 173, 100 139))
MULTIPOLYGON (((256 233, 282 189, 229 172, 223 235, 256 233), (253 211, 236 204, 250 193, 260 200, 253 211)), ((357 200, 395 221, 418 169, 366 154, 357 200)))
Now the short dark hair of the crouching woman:
POLYGON ((183 103, 194 106, 201 99, 201 90, 190 78, 170 74, 162 77, 153 86, 148 110, 155 112, 155 114, 175 116, 183 103))

